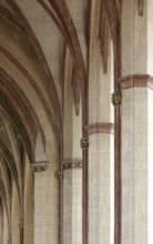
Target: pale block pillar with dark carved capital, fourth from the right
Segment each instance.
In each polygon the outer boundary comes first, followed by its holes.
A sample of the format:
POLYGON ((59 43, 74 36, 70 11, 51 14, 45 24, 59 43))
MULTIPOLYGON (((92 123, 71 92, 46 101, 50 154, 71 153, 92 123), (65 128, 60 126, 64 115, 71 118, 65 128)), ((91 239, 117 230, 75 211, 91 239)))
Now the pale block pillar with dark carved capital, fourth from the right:
POLYGON ((43 161, 31 166, 34 172, 34 244, 58 244, 58 164, 43 161))

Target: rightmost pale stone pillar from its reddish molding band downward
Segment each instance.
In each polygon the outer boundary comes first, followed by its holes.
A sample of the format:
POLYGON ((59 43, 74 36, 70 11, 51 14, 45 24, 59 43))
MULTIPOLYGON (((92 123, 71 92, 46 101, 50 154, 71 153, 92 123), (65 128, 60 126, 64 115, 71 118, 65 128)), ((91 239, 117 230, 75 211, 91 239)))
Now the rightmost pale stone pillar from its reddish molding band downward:
POLYGON ((131 75, 122 90, 122 243, 153 242, 153 79, 131 75))

